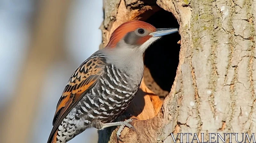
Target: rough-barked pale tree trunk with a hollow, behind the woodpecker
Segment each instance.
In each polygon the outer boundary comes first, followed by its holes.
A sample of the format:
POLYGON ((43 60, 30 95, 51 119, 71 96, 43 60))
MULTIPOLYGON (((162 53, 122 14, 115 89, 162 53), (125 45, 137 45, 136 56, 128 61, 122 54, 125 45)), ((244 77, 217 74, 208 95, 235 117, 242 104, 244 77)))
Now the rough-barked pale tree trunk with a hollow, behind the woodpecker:
MULTIPOLYGON (((117 26, 148 19, 160 7, 180 24, 175 81, 163 104, 141 84, 128 110, 139 113, 132 123, 136 131, 124 128, 120 138, 169 143, 170 133, 196 133, 200 141, 201 133, 204 141, 208 133, 238 133, 239 140, 241 133, 255 133, 256 0, 104 0, 103 46, 117 26), (141 102, 145 105, 138 109, 141 102)), ((116 143, 117 129, 99 131, 99 143, 116 143)))

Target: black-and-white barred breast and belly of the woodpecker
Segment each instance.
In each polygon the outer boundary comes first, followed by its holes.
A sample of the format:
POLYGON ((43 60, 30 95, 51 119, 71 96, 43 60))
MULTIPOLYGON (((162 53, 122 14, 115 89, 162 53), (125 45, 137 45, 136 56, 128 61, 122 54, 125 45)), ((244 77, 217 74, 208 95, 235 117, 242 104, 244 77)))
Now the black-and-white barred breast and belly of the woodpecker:
POLYGON ((77 109, 81 111, 86 124, 95 120, 111 122, 127 109, 139 86, 140 82, 117 69, 114 64, 108 64, 77 109))

